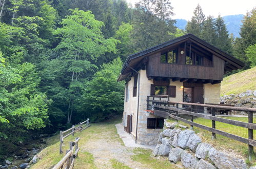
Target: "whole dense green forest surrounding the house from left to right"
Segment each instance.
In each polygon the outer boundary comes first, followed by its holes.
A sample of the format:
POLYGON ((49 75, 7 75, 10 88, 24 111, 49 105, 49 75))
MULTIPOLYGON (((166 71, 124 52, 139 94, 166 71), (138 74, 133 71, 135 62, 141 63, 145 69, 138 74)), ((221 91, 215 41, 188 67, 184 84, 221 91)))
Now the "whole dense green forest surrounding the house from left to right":
POLYGON ((186 33, 256 66, 255 8, 240 38, 200 5, 185 30, 173 15, 170 0, 0 0, 0 159, 33 135, 122 114, 127 56, 186 33))

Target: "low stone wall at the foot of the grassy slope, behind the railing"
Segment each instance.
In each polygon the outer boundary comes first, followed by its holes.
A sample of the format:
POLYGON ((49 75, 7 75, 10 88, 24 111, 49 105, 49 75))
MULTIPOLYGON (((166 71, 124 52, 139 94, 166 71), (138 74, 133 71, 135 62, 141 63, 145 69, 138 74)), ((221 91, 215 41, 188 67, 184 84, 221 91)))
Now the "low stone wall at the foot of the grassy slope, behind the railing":
MULTIPOLYGON (((256 108, 256 90, 247 90, 246 92, 234 95, 224 95, 221 102, 225 104, 234 104, 235 107, 256 108)), ((246 114, 245 112, 234 112, 235 114, 246 114)))

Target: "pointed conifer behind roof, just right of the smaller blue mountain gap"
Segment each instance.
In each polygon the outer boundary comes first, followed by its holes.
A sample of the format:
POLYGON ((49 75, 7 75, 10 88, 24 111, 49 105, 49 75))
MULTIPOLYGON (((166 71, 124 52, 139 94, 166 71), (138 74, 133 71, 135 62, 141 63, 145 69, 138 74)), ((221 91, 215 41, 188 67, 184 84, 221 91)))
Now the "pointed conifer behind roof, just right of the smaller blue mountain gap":
POLYGON ((194 16, 192 16, 191 21, 187 23, 186 32, 192 33, 195 36, 200 36, 205 21, 205 15, 201 6, 198 4, 194 10, 194 16))

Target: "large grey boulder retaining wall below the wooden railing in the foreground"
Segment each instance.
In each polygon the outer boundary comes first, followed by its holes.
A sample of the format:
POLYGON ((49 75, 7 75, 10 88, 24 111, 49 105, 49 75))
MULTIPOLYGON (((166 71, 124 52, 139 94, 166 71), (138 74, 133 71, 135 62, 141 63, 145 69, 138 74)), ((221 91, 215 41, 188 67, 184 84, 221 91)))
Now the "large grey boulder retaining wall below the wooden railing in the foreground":
POLYGON ((153 151, 154 156, 181 161, 185 168, 248 168, 245 161, 216 150, 191 130, 182 130, 166 122, 153 151))

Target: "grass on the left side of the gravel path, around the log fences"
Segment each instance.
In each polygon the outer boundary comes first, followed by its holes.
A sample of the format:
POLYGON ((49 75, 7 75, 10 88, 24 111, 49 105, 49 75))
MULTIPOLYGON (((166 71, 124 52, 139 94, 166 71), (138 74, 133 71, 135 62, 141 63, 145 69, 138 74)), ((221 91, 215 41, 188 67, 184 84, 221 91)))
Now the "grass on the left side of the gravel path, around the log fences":
MULTIPOLYGON (((63 154, 59 154, 59 146, 60 146, 60 142, 58 142, 59 135, 56 135, 47 139, 47 144, 49 146, 46 147, 42 152, 38 154, 38 157, 40 158, 40 160, 34 165, 32 165, 30 168, 37 169, 37 168, 53 167, 56 163, 58 163, 58 161, 60 161, 64 157, 65 151, 69 149, 69 144, 68 144, 69 141, 74 141, 76 137, 80 137, 81 139, 78 142, 78 145, 81 147, 83 146, 83 144, 89 141, 93 135, 94 135, 93 137, 95 138, 95 134, 100 135, 102 132, 105 132, 105 131, 112 131, 116 133, 116 128, 114 124, 119 122, 121 122, 120 117, 114 118, 107 122, 91 123, 91 126, 85 129, 84 131, 77 132, 74 134, 74 136, 71 135, 64 139, 64 144, 62 148, 64 152, 63 154)), ((116 141, 122 140, 117 134, 111 136, 111 139, 116 141)), ((92 154, 90 154, 89 152, 80 150, 78 153, 78 158, 75 160, 75 168, 96 168, 92 154)))

